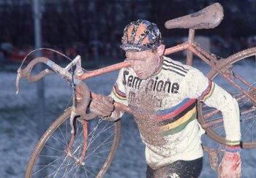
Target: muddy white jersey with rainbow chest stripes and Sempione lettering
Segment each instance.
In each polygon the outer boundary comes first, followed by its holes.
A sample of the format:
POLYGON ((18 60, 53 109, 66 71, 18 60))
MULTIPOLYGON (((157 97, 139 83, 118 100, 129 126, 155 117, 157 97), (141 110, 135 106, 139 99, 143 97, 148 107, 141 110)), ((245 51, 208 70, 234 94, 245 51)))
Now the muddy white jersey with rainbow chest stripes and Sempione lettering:
POLYGON ((202 72, 170 58, 162 56, 159 69, 146 80, 139 79, 132 68, 121 69, 110 96, 141 113, 135 120, 146 144, 146 161, 153 169, 203 156, 197 101, 222 112, 230 145, 240 141, 236 100, 202 72))

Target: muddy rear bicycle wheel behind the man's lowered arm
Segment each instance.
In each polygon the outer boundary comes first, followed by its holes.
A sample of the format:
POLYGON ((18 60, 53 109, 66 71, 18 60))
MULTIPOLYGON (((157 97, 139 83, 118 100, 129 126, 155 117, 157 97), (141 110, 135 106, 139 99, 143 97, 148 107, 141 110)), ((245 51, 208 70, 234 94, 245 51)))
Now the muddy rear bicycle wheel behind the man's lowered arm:
MULTIPOLYGON (((230 66, 232 66, 232 72, 239 73, 239 75, 240 75, 241 72, 239 72, 238 69, 241 69, 242 65, 246 65, 246 63, 249 63, 248 67, 252 67, 254 65, 256 66, 255 58, 252 59, 252 56, 256 56, 256 47, 252 47, 252 48, 249 48, 247 50, 243 50, 243 51, 241 51, 239 53, 236 53, 234 55, 230 55, 230 57, 228 57, 228 58, 222 59, 222 61, 220 61, 220 63, 217 65, 217 68, 220 69, 220 71, 222 71, 224 69, 227 69, 227 67, 229 69, 231 69, 230 66), (254 63, 254 65, 253 65, 253 63, 254 63)), ((250 68, 248 68, 248 69, 250 69, 250 68)), ((249 70, 247 70, 246 72, 248 72, 248 71, 249 70)), ((256 72, 255 71, 256 70, 253 69, 252 70, 252 75, 246 74, 245 77, 242 77, 244 80, 249 82, 249 84, 253 85, 254 87, 255 87, 255 82, 256 82, 256 79, 255 79, 256 78, 256 74, 255 74, 256 72), (253 77, 255 77, 255 78, 253 78, 253 77)), ((226 90, 229 93, 231 93, 231 95, 233 95, 233 97, 237 97, 237 96, 239 96, 238 93, 239 92, 241 93, 241 91, 238 91, 236 88, 231 86, 231 84, 229 82, 225 83, 225 82, 227 82, 227 80, 223 80, 223 77, 217 71, 215 71, 214 69, 212 69, 208 73, 207 77, 210 80, 212 80, 214 82, 217 82, 217 84, 220 85, 222 88, 227 88, 226 90), (231 90, 230 88, 234 91, 233 92, 230 91, 231 90)), ((235 82, 237 82, 236 77, 234 77, 233 80, 235 82)), ((241 82, 240 83, 238 82, 237 84, 241 88, 246 90, 245 86, 242 85, 241 82)), ((238 105, 239 105, 240 112, 242 112, 243 110, 245 110, 247 108, 250 108, 250 107, 251 108, 256 107, 256 104, 253 103, 252 101, 250 101, 249 98, 244 98, 241 101, 239 100, 238 105)), ((198 120, 199 120, 201 125, 209 123, 213 120, 217 120, 217 118, 218 119, 220 118, 219 117, 220 113, 219 113, 217 116, 206 119, 205 116, 210 111, 211 110, 208 110, 208 108, 206 106, 204 106, 204 104, 198 102, 198 104, 197 104, 198 120), (204 109, 204 107, 206 109, 204 109)), ((240 118, 240 123, 241 123, 241 147, 242 148, 256 147, 256 140, 254 140, 254 137, 256 137, 256 133, 253 131, 254 126, 256 126, 255 125, 255 119, 256 119, 255 115, 256 115, 256 112, 254 111, 254 112, 249 113, 248 115, 246 115, 246 117, 241 116, 241 118, 240 118), (249 117, 251 119, 249 119, 249 117), (246 118, 247 118, 247 120, 246 120, 246 118), (249 123, 250 120, 252 121, 251 123, 249 123), (252 133, 252 136, 249 136, 248 133, 252 133)), ((206 134, 211 139, 214 139, 214 141, 219 142, 219 144, 225 145, 225 131, 224 131, 224 127, 223 127, 223 122, 222 123, 217 123, 216 125, 211 125, 211 127, 204 128, 204 129, 206 131, 206 134)))

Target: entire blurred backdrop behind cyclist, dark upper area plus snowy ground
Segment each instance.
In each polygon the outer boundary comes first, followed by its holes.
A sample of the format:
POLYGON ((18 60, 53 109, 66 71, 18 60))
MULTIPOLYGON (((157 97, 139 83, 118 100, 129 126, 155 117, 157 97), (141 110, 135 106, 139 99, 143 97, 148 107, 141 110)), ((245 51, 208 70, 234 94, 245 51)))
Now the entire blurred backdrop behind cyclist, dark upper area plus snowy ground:
MULTIPOLYGON (((22 80, 16 96, 16 71, 26 54, 38 47, 51 48, 69 58, 81 55, 85 69, 97 69, 124 60, 119 45, 124 27, 132 20, 157 23, 165 44, 172 47, 186 40, 188 30, 167 30, 165 21, 214 2, 222 4, 224 20, 217 28, 195 31, 197 42, 222 57, 255 47, 256 0, 0 0, 0 157, 4 160, 0 162, 0 177, 23 177, 39 137, 64 111, 72 95, 67 82, 48 76, 37 84, 22 80)), ((67 62, 50 50, 42 50, 41 55, 56 63, 67 62)), ((184 53, 173 58, 184 61, 184 53)), ((195 66, 205 74, 209 70, 200 61, 195 61, 195 66)), ((108 95, 117 74, 86 83, 94 93, 108 95)), ((145 177, 144 145, 131 115, 124 115, 122 128, 118 152, 106 177, 145 177)), ((206 136, 203 140, 211 142, 206 136)), ((255 177, 254 151, 242 151, 243 177, 255 177)), ((217 177, 207 156, 200 177, 217 177)))

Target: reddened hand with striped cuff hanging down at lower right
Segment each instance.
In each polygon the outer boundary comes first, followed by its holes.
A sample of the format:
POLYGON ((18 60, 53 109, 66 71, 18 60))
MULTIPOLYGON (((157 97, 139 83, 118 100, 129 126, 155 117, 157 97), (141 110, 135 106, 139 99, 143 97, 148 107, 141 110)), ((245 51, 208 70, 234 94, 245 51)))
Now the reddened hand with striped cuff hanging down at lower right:
POLYGON ((226 146, 225 155, 222 163, 219 165, 218 177, 220 178, 237 178, 241 177, 241 156, 240 146, 226 146))

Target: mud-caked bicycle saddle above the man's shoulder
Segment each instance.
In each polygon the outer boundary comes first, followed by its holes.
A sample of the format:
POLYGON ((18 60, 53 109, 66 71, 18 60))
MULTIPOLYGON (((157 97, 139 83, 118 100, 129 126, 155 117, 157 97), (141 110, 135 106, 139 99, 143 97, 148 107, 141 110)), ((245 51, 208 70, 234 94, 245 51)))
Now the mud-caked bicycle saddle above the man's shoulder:
POLYGON ((165 28, 215 28, 222 21, 223 16, 222 5, 214 3, 190 15, 184 15, 181 18, 167 20, 165 22, 165 28))

